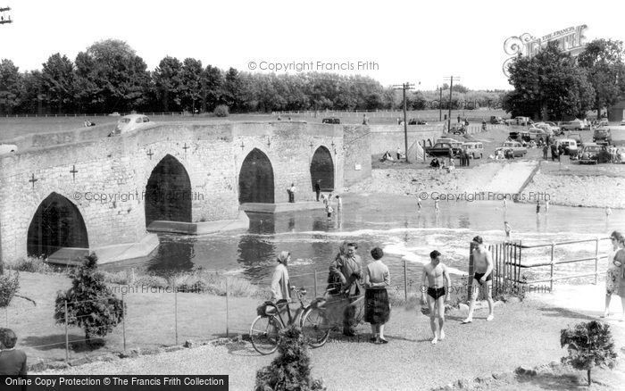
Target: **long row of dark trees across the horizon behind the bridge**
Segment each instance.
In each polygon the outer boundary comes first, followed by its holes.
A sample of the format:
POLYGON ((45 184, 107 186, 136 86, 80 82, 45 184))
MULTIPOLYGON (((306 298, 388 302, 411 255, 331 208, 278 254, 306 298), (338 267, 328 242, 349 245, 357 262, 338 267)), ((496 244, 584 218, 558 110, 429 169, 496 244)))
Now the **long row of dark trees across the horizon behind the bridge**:
MULTIPOLYGON (((453 109, 500 107, 504 91, 454 86, 453 109)), ((449 87, 410 91, 408 109, 447 109, 449 87)), ((99 41, 72 62, 52 54, 41 70, 20 72, 0 61, 0 114, 389 110, 403 107, 401 91, 364 76, 331 73, 262 74, 227 71, 187 58, 164 57, 154 71, 121 40, 99 41)))

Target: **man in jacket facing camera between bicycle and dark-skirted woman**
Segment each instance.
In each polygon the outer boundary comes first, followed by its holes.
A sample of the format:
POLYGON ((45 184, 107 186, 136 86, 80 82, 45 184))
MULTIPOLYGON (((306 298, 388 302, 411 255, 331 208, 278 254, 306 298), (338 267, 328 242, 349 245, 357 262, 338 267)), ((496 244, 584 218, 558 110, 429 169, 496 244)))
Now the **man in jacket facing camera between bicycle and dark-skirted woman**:
POLYGON ((329 271, 337 273, 342 284, 341 292, 347 295, 349 301, 345 312, 343 312, 343 335, 346 337, 355 337, 356 335, 354 330, 356 308, 353 303, 362 293, 362 260, 360 255, 356 254, 356 249, 358 249, 358 245, 348 243, 346 255, 337 257, 329 265, 329 271))

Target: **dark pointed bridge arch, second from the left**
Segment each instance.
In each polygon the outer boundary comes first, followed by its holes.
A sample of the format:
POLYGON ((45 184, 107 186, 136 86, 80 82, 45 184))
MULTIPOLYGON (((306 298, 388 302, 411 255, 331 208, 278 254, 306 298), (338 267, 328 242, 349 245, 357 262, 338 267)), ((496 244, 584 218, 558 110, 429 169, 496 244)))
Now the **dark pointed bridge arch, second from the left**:
POLYGON ((191 180, 171 154, 159 162, 147 179, 146 227, 154 220, 191 222, 191 180))

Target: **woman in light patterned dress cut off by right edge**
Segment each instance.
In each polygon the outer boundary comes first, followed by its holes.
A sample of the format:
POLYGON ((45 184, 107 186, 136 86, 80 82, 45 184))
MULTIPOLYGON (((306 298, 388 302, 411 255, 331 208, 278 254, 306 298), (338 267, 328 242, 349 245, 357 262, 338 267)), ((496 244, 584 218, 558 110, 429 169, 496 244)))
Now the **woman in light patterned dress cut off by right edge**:
POLYGON ((612 250, 608 253, 608 270, 605 275, 605 311, 602 318, 610 316, 610 302, 612 295, 621 296, 623 314, 621 321, 625 321, 625 237, 619 231, 610 235, 612 250))

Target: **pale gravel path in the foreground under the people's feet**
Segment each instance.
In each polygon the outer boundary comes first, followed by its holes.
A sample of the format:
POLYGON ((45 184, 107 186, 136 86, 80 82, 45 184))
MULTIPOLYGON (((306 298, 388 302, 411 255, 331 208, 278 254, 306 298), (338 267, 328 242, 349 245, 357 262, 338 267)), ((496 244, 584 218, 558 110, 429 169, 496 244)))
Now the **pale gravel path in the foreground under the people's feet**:
MULTIPOLYGON (((429 318, 396 308, 387 325, 388 345, 364 342, 368 328, 362 325, 361 341, 339 338, 312 350, 312 375, 323 378, 329 390, 441 387, 455 379, 559 361, 564 354, 560 329, 590 319, 533 300, 497 307, 492 322, 485 317, 482 310, 471 325, 461 325, 462 314, 452 313, 447 317, 446 340, 431 345, 429 318)), ((617 345, 622 346, 624 339, 621 336, 617 345)), ((249 390, 255 371, 273 357, 256 354, 249 344, 205 345, 48 373, 229 374, 230 389, 249 390)))

